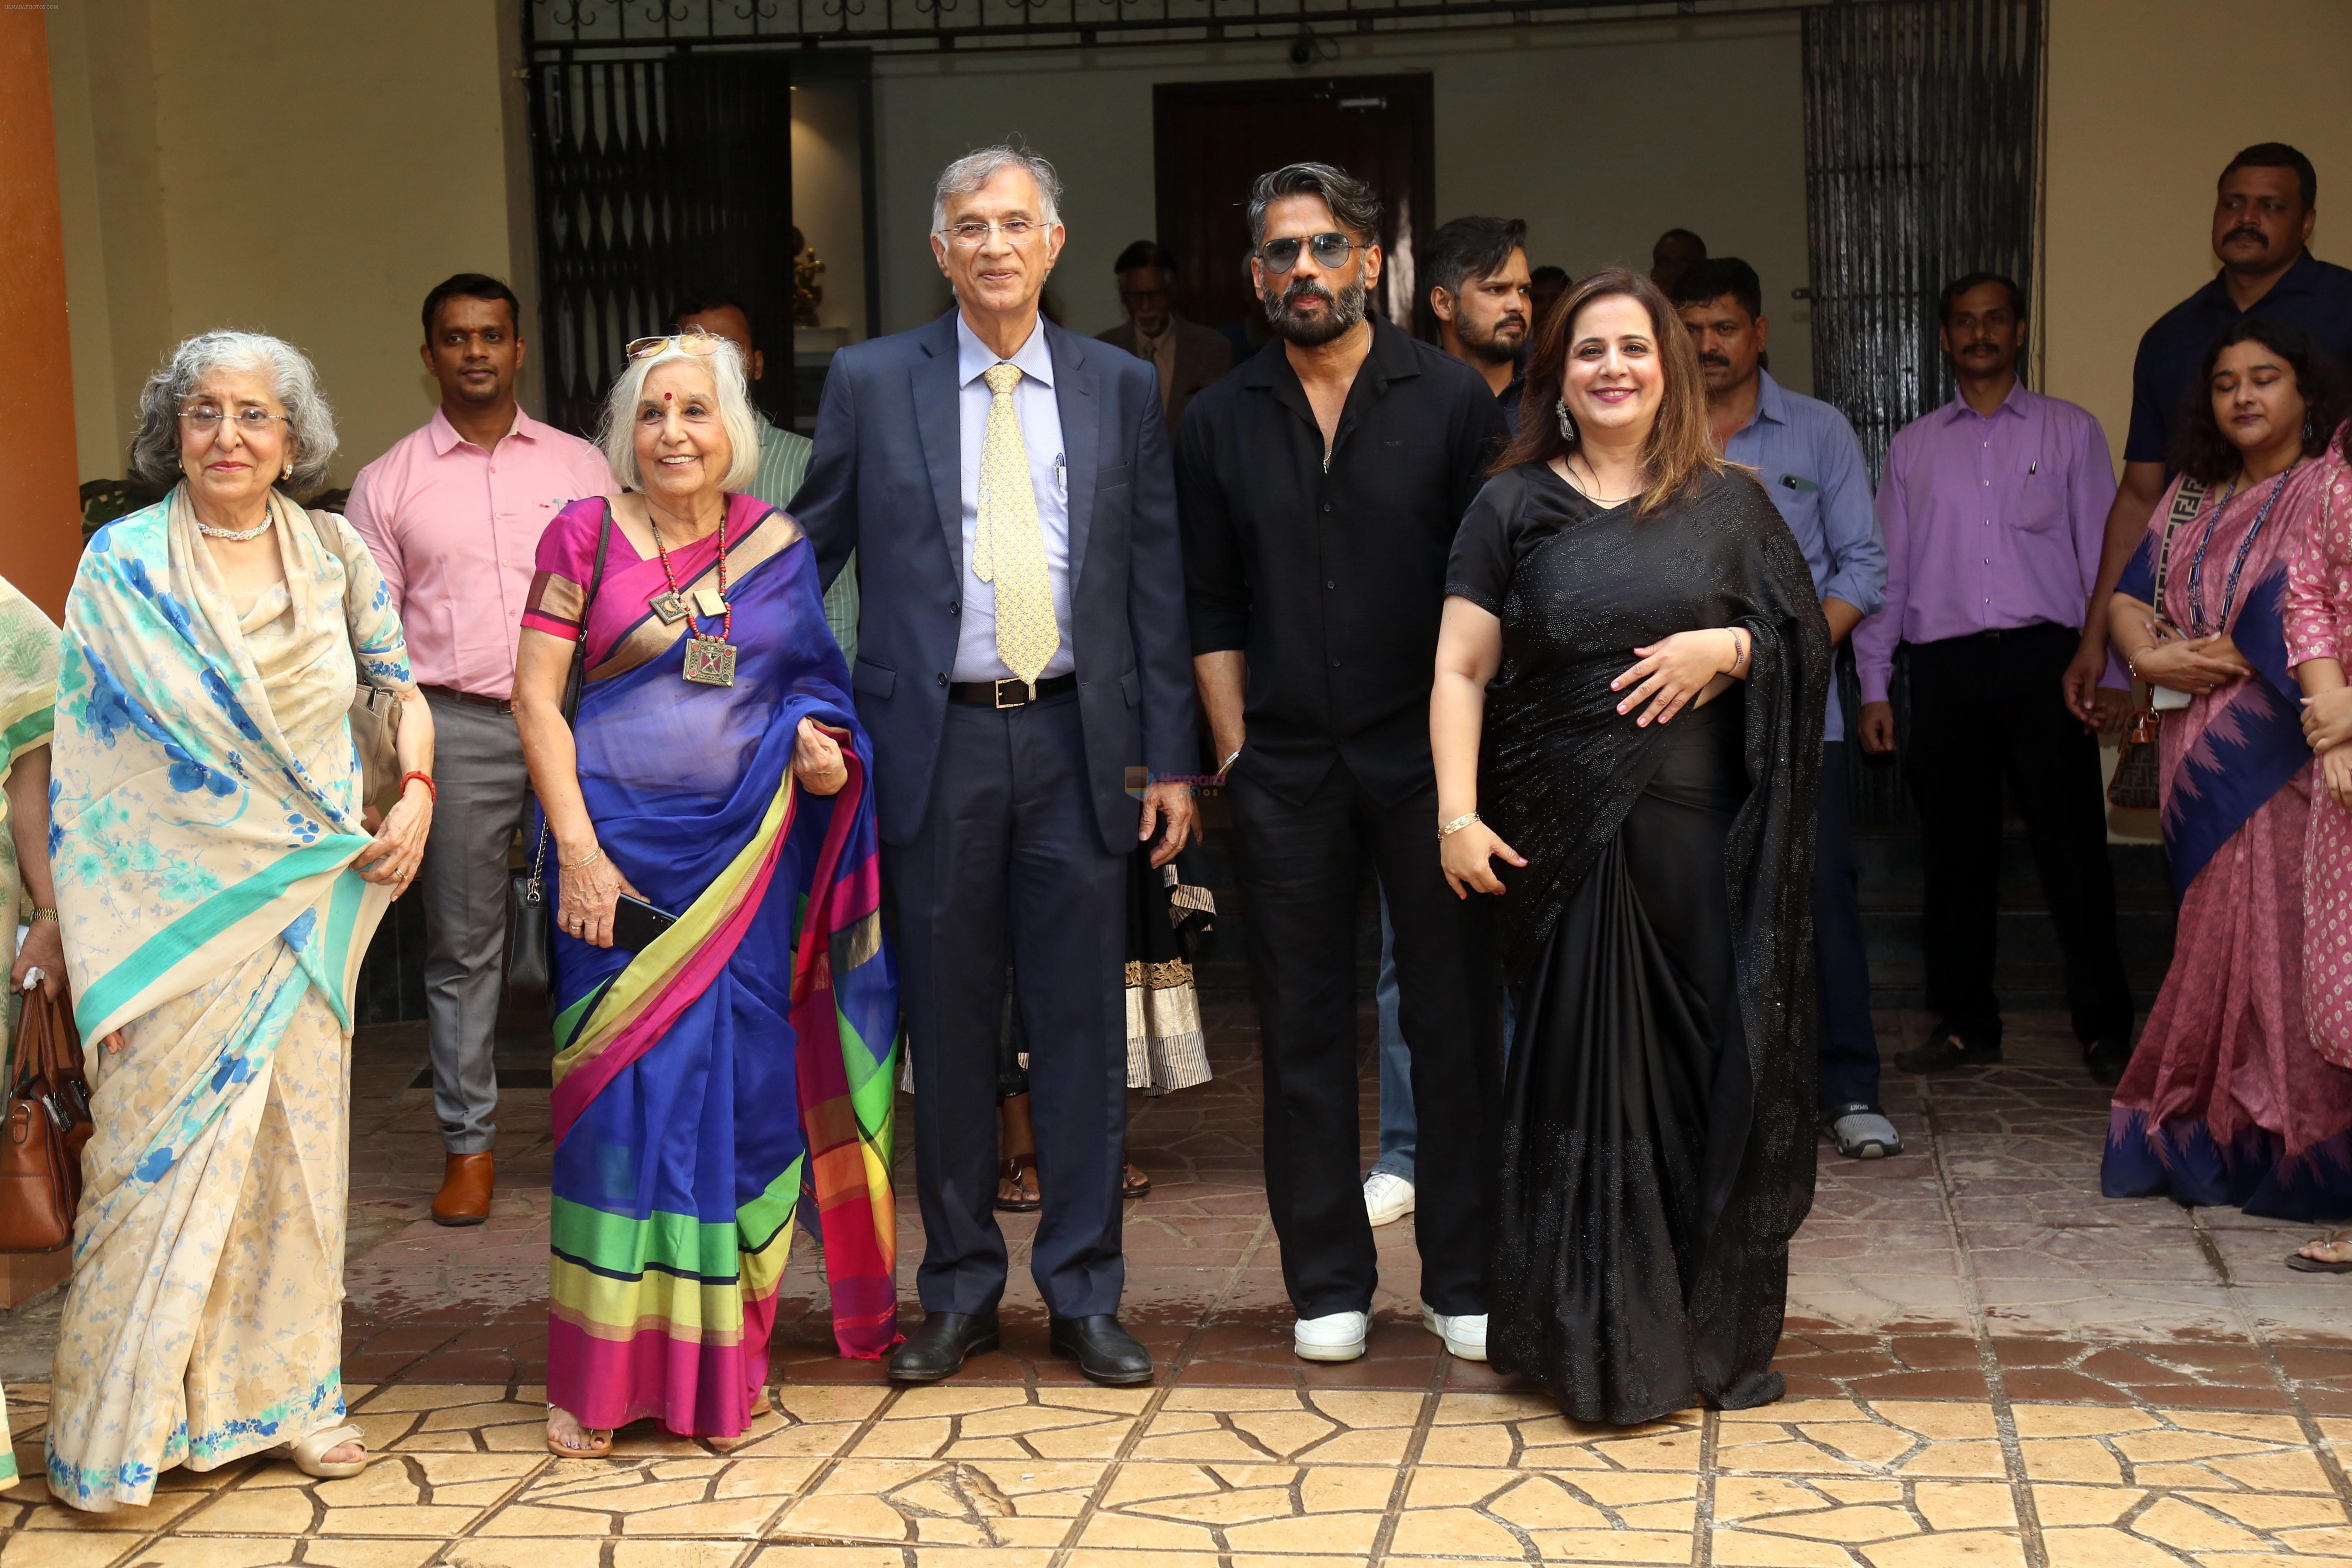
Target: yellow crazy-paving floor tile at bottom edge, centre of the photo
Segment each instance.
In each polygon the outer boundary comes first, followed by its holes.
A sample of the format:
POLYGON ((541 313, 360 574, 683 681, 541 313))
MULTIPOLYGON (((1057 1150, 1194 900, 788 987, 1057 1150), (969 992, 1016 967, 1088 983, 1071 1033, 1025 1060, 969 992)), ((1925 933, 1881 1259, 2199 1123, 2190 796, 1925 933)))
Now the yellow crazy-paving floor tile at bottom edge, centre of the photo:
POLYGON ((1371 1552, 1397 1490, 1374 1465, 1122 1465, 1077 1554, 1371 1552))

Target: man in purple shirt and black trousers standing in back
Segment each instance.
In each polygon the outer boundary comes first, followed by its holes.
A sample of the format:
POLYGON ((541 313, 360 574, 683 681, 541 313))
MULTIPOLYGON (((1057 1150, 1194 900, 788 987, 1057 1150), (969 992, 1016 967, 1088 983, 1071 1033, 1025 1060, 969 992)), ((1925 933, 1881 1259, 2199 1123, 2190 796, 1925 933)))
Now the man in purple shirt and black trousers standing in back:
MULTIPOLYGON (((2098 741, 2063 689, 2098 576, 2114 468, 2086 409, 2018 383, 2025 296, 2016 282, 1959 277, 1938 315, 1959 397, 1886 449, 1886 604, 1853 632, 1867 752, 1896 748, 1886 677, 1896 642, 1912 651, 1903 762, 1926 875, 1926 1004, 1943 1020, 1896 1065, 1945 1072, 2002 1060, 1992 945, 2006 778, 2058 924, 2084 1065, 2114 1084, 2131 1058, 2131 985, 2114 943, 2098 741)), ((2103 703, 2124 686, 2110 663, 2103 703)))

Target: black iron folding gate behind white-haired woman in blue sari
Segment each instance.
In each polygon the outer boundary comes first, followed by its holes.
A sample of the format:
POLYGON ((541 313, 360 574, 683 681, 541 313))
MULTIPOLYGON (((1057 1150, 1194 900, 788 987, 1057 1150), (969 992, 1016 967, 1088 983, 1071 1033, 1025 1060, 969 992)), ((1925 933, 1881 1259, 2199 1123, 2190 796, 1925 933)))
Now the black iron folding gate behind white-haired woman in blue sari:
POLYGON ((687 294, 739 296, 760 407, 793 421, 793 75, 783 52, 532 63, 548 418, 590 433, 621 346, 687 294))

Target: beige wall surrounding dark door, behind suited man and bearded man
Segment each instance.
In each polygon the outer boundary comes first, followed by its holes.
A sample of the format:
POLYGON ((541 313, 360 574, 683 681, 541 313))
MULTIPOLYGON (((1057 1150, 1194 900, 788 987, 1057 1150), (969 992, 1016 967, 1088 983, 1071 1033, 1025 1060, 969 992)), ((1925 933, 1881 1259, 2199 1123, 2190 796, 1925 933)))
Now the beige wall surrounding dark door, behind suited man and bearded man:
MULTIPOLYGON (((946 299, 924 244, 931 176, 1007 136, 1025 136, 1068 186, 1070 247, 1054 277, 1068 322, 1084 331, 1115 324, 1110 263, 1155 228, 1152 82, 1294 75, 1284 49, 880 59, 884 329, 913 327, 946 299)), ((1338 49, 1315 75, 1435 75, 1439 221, 1524 216, 1531 259, 1569 273, 1606 261, 1646 270, 1661 230, 1696 228, 1715 254, 1757 266, 1766 313, 1780 327, 1773 369, 1811 388, 1809 315, 1790 301, 1806 280, 1792 16, 1350 35, 1338 49)))

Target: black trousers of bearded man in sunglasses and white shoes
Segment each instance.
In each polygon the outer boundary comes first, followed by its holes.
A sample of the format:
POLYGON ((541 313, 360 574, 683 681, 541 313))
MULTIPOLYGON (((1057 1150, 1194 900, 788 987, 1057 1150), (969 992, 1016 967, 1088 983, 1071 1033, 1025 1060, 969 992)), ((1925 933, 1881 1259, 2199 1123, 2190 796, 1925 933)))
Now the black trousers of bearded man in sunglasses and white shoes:
POLYGON ((1298 1316, 1369 1312, 1378 1279, 1357 1121, 1355 914, 1367 863, 1395 931, 1414 1056, 1414 1239, 1432 1312, 1486 1312, 1498 980, 1482 900, 1437 870, 1437 788, 1383 806, 1348 764, 1305 802, 1232 778, 1265 1060, 1265 1206, 1298 1316))

